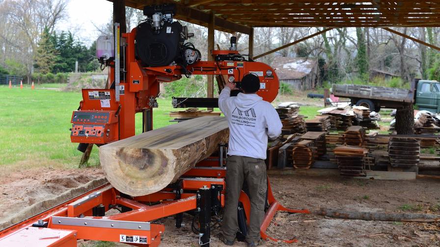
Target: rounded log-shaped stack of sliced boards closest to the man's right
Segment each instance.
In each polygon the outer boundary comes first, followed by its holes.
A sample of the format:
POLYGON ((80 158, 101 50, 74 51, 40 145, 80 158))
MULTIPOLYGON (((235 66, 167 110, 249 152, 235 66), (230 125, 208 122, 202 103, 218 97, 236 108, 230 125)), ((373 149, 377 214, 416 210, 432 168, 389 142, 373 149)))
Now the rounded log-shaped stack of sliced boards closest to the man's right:
POLYGON ((292 149, 293 167, 297 169, 309 169, 317 157, 316 148, 312 140, 302 140, 295 144, 292 149))

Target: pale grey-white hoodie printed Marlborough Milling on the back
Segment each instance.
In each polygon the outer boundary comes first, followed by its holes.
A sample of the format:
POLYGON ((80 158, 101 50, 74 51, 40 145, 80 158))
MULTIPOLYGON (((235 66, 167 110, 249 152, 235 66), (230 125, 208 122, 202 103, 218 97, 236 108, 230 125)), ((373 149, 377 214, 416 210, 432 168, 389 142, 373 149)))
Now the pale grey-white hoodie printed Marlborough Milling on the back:
POLYGON ((221 90, 219 107, 229 124, 229 155, 266 159, 267 141, 281 134, 281 121, 271 103, 256 94, 221 90))

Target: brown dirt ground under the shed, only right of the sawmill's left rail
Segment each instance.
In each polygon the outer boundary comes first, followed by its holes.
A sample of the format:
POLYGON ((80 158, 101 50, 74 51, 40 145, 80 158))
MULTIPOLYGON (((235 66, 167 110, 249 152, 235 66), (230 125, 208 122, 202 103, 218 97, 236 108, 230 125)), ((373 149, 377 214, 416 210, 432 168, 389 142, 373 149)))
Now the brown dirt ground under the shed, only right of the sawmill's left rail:
MULTIPOLYGON (((289 208, 320 207, 369 212, 411 212, 440 214, 440 180, 416 181, 358 180, 339 176, 310 177, 272 175, 275 197, 289 208)), ((192 217, 185 215, 186 225, 174 227, 172 218, 165 224, 164 247, 198 246, 198 236, 191 231, 192 217)), ((220 225, 213 222, 212 247, 225 247, 216 235, 220 225)), ((267 241, 263 246, 310 247, 439 247, 440 222, 379 222, 342 220, 318 216, 278 212, 269 229, 269 236, 278 239, 297 238, 298 243, 267 241)), ((84 246, 95 246, 96 242, 84 246)), ((125 246, 117 244, 116 246, 125 246)), ((246 246, 236 242, 236 246, 246 246)))

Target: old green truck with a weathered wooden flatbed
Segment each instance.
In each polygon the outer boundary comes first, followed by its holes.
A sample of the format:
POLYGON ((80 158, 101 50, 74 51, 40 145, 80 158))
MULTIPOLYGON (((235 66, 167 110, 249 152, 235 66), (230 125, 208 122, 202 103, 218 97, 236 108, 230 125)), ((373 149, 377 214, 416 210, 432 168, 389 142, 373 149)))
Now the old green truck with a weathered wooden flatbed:
POLYGON ((333 84, 336 97, 350 99, 352 105, 362 105, 371 111, 416 104, 419 110, 440 113, 440 82, 415 79, 410 89, 368 85, 333 84))

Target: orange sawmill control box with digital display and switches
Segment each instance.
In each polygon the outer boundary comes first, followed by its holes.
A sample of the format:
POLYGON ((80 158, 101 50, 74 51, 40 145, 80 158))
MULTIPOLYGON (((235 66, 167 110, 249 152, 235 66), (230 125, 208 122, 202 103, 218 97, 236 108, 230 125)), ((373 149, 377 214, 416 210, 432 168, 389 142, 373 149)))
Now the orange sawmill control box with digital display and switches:
POLYGON ((76 143, 106 144, 116 141, 116 111, 74 111, 70 139, 76 143))

